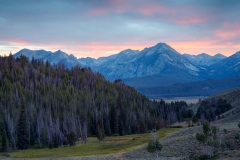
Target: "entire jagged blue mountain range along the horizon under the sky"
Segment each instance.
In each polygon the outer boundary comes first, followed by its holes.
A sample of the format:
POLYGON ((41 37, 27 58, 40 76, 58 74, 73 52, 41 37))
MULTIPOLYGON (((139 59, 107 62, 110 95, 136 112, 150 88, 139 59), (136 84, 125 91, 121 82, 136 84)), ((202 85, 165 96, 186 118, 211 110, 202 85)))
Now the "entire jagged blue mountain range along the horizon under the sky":
POLYGON ((152 90, 153 87, 185 84, 210 78, 224 79, 240 74, 240 52, 230 57, 220 53, 214 56, 206 53, 195 56, 180 54, 165 43, 158 43, 142 51, 127 49, 98 59, 91 57, 77 59, 60 50, 50 52, 23 49, 14 57, 20 55, 25 55, 29 60, 34 57, 43 61, 48 60, 51 64, 63 63, 67 68, 75 65, 90 67, 110 81, 122 79, 126 84, 144 90, 147 87, 152 90))

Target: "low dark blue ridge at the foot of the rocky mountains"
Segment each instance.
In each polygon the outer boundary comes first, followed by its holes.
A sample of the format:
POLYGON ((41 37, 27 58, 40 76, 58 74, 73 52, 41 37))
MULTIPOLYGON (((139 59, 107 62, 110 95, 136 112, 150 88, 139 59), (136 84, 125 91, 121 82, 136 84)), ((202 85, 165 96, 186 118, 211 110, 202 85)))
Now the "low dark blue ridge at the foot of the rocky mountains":
POLYGON ((191 83, 179 83, 169 86, 139 87, 137 90, 147 95, 149 98, 168 98, 211 96, 221 91, 239 86, 240 75, 222 79, 208 79, 191 83))

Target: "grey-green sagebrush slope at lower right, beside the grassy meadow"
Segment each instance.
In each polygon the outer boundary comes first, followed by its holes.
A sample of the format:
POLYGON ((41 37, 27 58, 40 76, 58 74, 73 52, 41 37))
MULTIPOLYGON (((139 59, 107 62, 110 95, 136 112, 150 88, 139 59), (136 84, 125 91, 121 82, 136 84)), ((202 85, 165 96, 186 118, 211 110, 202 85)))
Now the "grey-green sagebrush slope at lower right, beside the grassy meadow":
MULTIPOLYGON (((224 135, 222 139, 226 139, 230 143, 229 148, 225 148, 217 159, 239 160, 240 143, 239 139, 235 137, 240 133, 240 129, 238 128, 240 114, 226 120, 226 122, 216 121, 212 123, 212 125, 219 128, 220 134, 224 135), (226 130, 227 133, 225 133, 224 130, 226 130)), ((121 157, 122 159, 194 159, 191 158, 191 155, 201 150, 201 148, 206 147, 202 146, 196 140, 196 133, 202 133, 201 126, 186 128, 161 139, 160 143, 163 145, 163 149, 158 153, 159 158, 156 158, 156 154, 148 153, 145 147, 125 153, 121 155, 121 157)))

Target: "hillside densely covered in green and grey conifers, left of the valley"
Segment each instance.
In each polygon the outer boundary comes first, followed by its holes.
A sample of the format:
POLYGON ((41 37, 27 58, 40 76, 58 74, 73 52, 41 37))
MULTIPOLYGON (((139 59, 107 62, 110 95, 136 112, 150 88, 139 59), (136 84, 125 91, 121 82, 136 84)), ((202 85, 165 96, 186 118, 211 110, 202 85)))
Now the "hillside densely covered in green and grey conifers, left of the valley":
POLYGON ((0 151, 145 133, 189 116, 185 102, 150 101, 89 68, 0 57, 0 151))

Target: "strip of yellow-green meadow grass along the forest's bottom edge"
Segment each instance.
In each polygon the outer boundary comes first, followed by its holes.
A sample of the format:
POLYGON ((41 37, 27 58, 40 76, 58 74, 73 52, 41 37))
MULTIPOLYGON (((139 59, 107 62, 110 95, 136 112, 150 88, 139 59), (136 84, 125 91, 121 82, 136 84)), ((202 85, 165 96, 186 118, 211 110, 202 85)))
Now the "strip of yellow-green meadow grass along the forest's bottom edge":
MULTIPOLYGON (((156 132, 157 138, 161 139, 180 128, 160 129, 156 132)), ((152 133, 133 134, 126 136, 106 137, 103 142, 97 138, 88 138, 87 144, 77 143, 74 147, 59 147, 54 149, 28 149, 10 152, 13 158, 59 158, 59 157, 79 157, 79 156, 99 156, 127 152, 140 148, 153 138, 152 133)))

